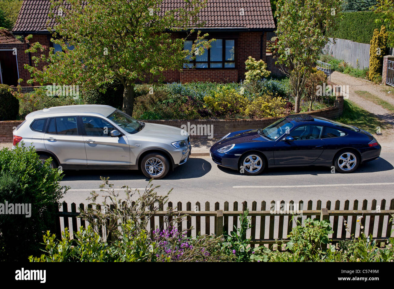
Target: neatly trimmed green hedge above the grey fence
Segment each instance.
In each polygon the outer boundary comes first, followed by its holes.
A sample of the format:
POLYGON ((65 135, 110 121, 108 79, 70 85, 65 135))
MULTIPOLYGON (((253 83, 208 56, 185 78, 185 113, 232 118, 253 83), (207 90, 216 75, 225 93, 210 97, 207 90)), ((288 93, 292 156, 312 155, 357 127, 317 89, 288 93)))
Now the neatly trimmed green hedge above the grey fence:
POLYGON ((379 14, 373 11, 347 12, 342 21, 336 26, 336 30, 328 35, 334 38, 349 39, 361 43, 370 43, 374 35, 374 29, 379 29, 381 24, 376 24, 379 14))

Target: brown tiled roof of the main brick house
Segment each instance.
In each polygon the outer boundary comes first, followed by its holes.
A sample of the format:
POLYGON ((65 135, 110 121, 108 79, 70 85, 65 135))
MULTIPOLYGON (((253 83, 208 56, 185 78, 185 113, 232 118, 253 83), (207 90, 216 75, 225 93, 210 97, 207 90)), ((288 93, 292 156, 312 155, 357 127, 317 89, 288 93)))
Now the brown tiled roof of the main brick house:
MULTIPOLYGON (((183 5, 183 0, 162 2, 164 11, 183 5)), ((45 32, 49 8, 50 0, 24 0, 13 32, 45 32)), ((204 28, 275 28, 269 0, 207 0, 199 16, 204 28)))

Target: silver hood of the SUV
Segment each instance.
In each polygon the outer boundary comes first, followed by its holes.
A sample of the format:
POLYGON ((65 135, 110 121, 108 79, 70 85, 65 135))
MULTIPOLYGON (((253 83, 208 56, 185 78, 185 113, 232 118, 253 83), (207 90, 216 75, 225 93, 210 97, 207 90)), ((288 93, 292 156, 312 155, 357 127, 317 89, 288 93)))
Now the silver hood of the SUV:
POLYGON ((156 141, 166 140, 176 142, 179 140, 186 140, 188 134, 183 129, 172 127, 170 125, 160 125, 157 123, 145 123, 145 127, 132 134, 133 137, 152 138, 156 141))

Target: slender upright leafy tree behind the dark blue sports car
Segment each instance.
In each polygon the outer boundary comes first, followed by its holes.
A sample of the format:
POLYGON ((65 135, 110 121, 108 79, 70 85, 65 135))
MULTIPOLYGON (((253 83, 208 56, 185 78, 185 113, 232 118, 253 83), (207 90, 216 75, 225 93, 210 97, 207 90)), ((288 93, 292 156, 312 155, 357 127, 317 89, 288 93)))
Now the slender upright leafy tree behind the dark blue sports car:
POLYGON ((328 42, 327 29, 340 19, 340 1, 280 0, 277 5, 278 43, 275 58, 281 70, 290 78, 295 98, 294 111, 299 104, 319 54, 328 42))

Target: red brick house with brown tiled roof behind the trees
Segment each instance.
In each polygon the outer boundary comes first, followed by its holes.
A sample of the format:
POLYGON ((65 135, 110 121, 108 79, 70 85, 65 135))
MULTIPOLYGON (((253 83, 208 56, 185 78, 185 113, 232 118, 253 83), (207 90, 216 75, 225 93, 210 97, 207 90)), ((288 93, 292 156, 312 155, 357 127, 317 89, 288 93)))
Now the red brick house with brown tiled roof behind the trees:
MULTIPOLYGON (((163 5, 165 9, 174 9, 182 5, 181 2, 164 0, 163 5)), ((42 45, 53 47, 51 35, 46 29, 49 9, 49 0, 24 0, 13 34, 23 37, 32 34, 31 43, 39 41, 42 45)), ((200 17, 205 25, 199 30, 208 33, 208 38, 215 38, 216 41, 212 42, 212 47, 203 55, 197 56, 192 64, 185 63, 181 71, 166 71, 165 82, 239 82, 245 77, 245 60, 248 56, 264 60, 268 69, 275 74, 277 69, 272 57, 266 55, 267 35, 275 30, 269 0, 208 0, 200 17), (191 65, 195 68, 188 68, 191 65)), ((173 35, 182 36, 182 32, 173 35)), ((191 45, 190 41, 193 41, 192 37, 185 42, 185 49, 191 45)), ((21 46, 27 48, 26 43, 21 46)), ((17 54, 17 68, 19 78, 23 79, 22 86, 27 86, 29 74, 23 65, 32 63, 33 55, 24 55, 23 49, 20 50, 17 54)))

